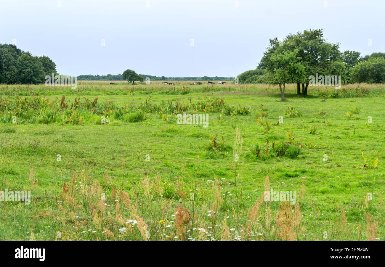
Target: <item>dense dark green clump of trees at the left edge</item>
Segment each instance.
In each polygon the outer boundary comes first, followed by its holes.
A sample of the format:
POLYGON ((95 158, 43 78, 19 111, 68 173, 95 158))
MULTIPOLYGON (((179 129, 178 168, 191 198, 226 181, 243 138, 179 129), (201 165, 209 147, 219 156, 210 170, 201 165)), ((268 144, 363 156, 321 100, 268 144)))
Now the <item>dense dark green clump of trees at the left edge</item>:
POLYGON ((33 56, 12 44, 0 43, 0 83, 44 83, 46 75, 58 75, 46 56, 33 56))

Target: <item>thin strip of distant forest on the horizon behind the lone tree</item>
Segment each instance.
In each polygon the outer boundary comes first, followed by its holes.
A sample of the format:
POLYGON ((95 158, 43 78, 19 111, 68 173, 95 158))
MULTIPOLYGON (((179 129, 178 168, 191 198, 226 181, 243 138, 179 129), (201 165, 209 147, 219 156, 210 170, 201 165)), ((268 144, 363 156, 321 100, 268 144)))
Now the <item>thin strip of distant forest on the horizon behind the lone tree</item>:
MULTIPOLYGON (((153 81, 192 81, 192 80, 199 80, 199 81, 219 81, 219 80, 234 80, 234 77, 159 77, 159 76, 153 76, 153 75, 145 75, 145 74, 139 74, 141 75, 144 79, 147 77, 150 78, 150 80, 153 81)), ((112 74, 107 74, 107 75, 79 75, 77 77, 77 80, 79 81, 121 81, 122 80, 122 74, 117 74, 117 75, 112 75, 112 74)))

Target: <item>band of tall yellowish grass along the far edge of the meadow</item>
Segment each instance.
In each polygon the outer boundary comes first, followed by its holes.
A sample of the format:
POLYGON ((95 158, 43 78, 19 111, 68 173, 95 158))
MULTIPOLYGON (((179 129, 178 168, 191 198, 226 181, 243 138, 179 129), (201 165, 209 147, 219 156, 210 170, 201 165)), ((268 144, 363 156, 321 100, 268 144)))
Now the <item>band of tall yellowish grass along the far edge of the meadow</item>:
MULTIPOLYGON (((110 85, 107 81, 78 81, 77 89, 63 86, 47 87, 40 85, 0 85, 0 95, 12 96, 44 96, 44 95, 185 95, 188 93, 205 92, 268 92, 278 93, 277 85, 270 84, 233 84, 218 85, 203 81, 202 85, 189 85, 189 81, 176 81, 175 85, 162 85, 161 82, 151 82, 149 85, 136 85, 121 81, 110 85)), ((296 84, 287 84, 287 94, 296 94, 296 84)), ((385 95, 384 84, 354 83, 342 85, 340 89, 333 86, 310 86, 308 95, 323 98, 371 97, 385 95)))

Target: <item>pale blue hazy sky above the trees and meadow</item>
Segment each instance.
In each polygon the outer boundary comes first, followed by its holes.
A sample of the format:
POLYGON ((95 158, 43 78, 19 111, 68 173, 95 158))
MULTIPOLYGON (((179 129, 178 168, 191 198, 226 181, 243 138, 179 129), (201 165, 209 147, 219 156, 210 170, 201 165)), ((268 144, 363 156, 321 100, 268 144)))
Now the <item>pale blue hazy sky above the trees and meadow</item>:
POLYGON ((236 77, 269 38, 323 28, 340 50, 385 52, 383 0, 0 0, 0 43, 60 74, 236 77))

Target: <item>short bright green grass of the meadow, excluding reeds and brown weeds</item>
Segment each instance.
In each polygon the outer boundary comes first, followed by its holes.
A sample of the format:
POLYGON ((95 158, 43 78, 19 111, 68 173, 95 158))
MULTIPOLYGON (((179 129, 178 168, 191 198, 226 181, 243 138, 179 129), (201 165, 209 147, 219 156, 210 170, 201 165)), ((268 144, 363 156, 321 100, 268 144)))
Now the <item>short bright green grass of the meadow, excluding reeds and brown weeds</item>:
MULTIPOLYGON (((30 89, 34 90, 33 87, 30 89)), ((162 92, 164 89, 157 90, 162 92)), ((30 169, 34 170, 35 178, 39 180, 39 187, 32 190, 30 205, 0 202, 0 239, 30 239, 33 232, 35 239, 54 240, 58 231, 62 233, 61 239, 112 239, 102 233, 103 228, 113 232, 115 239, 142 239, 138 228, 134 228, 133 233, 127 231, 119 237, 118 229, 131 227, 125 222, 135 218, 146 221, 150 239, 174 239, 177 230, 173 222, 175 217, 171 217, 171 214, 175 213, 178 203, 195 214, 193 224, 186 224, 185 239, 191 236, 198 239, 201 231, 193 229, 199 227, 213 231, 214 239, 221 239, 226 229, 225 216, 229 216, 226 222, 229 229, 234 228, 239 233, 242 233, 239 225, 246 229, 248 210, 257 199, 261 199, 265 177, 269 175, 270 186, 275 190, 296 190, 298 195, 302 184, 306 189, 305 196, 298 200, 303 215, 303 231, 298 231, 296 239, 323 240, 323 232, 326 231, 329 240, 356 240, 359 225, 362 225, 360 239, 366 239, 365 213, 370 212, 378 222, 376 236, 383 240, 385 220, 380 196, 385 191, 385 125, 382 120, 385 99, 368 96, 328 98, 324 102, 321 98, 296 97, 289 93, 286 95, 287 101, 281 102, 277 92, 222 89, 151 96, 152 103, 157 105, 162 101, 167 103, 167 100, 189 103, 191 98, 195 104, 222 98, 229 106, 250 108, 250 114, 243 113, 243 110, 227 113, 231 115, 226 115, 222 109, 209 112, 208 128, 202 125, 177 125, 174 115, 179 112, 169 112, 169 120, 163 120, 156 112, 145 111, 127 113, 122 115, 122 119, 110 116, 110 123, 105 124, 100 124, 100 114, 87 115, 88 111, 79 114, 84 117, 80 125, 64 121, 0 123, 1 189, 31 188, 30 169), (271 127, 268 131, 257 122, 262 103, 264 120, 268 119, 271 127), (220 113, 223 114, 219 116, 220 113), (346 116, 345 113, 352 116, 346 116), (276 123, 280 116, 283 116, 283 123, 276 123), (355 119, 350 119, 353 116, 355 119), (366 125, 368 116, 373 119, 370 127, 366 125), (236 167, 235 187, 233 154, 236 128, 239 129, 243 145, 236 167), (314 129, 316 134, 313 134, 314 129), (266 152, 267 146, 271 147, 273 143, 280 145, 287 142, 288 132, 292 132, 295 142, 300 143, 299 148, 298 145, 291 145, 288 155, 266 152), (205 147, 215 133, 218 133, 217 141, 223 141, 221 145, 227 153, 205 147), (269 144, 266 144, 266 139, 269 144), (257 145, 261 148, 258 156, 255 151, 257 145), (377 168, 363 167, 362 151, 372 161, 378 157, 377 168), (60 155, 61 161, 57 161, 57 155, 60 155), (149 161, 146 161, 146 155, 149 161), (328 156, 327 161, 324 161, 324 155, 328 156), (137 205, 138 217, 131 209, 121 208, 124 219, 119 222, 111 219, 116 217, 114 205, 106 205, 105 219, 101 223, 92 219, 90 207, 84 204, 87 198, 81 194, 87 190, 82 191, 79 185, 82 170, 84 181, 88 180, 88 184, 84 183, 91 187, 91 181, 99 182, 110 204, 114 202, 111 199, 113 187, 117 192, 120 189, 128 192, 132 203, 137 205), (70 194, 76 205, 70 205, 65 203, 65 197, 61 194, 64 182, 68 184, 74 172, 77 173, 77 182, 70 194), (208 210, 213 210, 213 192, 216 192, 216 187, 210 182, 214 181, 214 176, 219 179, 219 195, 222 198, 217 215, 208 217, 208 210), (146 191, 146 184, 151 188, 150 193, 146 191), (162 194, 157 187, 162 188, 162 194), (194 202, 189 199, 191 192, 196 195, 194 202), (368 193, 372 194, 373 199, 365 203, 368 193), (59 203, 65 212, 60 210, 59 203), (342 208, 346 216, 343 230, 338 226, 342 208), (238 211, 237 215, 234 211, 238 211), (163 222, 159 223, 160 220, 172 226, 166 228, 163 222), (208 227, 213 227, 213 230, 208 227), (89 229, 97 232, 93 234, 89 229), (86 233, 82 233, 84 231, 86 233)), ((49 99, 60 99, 61 93, 50 95, 49 99)), ((30 92, 26 95, 30 95, 30 92)), ((72 102, 79 96, 83 97, 79 94, 66 95, 66 100, 72 102)), ((95 98, 95 95, 84 96, 91 101, 95 98)), ((133 100, 135 105, 139 105, 147 97, 147 94, 101 95, 98 103, 111 100, 116 107, 122 107, 133 100)), ((203 111, 196 105, 194 108, 187 107, 188 112, 203 111)), ((46 117, 49 118, 49 114, 46 117)), ((280 204, 271 202, 261 206, 262 214, 265 214, 268 206, 271 207, 272 225, 276 224, 274 217, 280 204)), ((266 220, 266 216, 259 216, 262 221, 266 220)), ((277 232, 270 231, 271 228, 259 226, 260 230, 255 232, 262 232, 264 239, 281 239, 277 232)), ((233 230, 230 232, 234 235, 233 230)), ((204 237, 209 239, 207 235, 204 237)))

